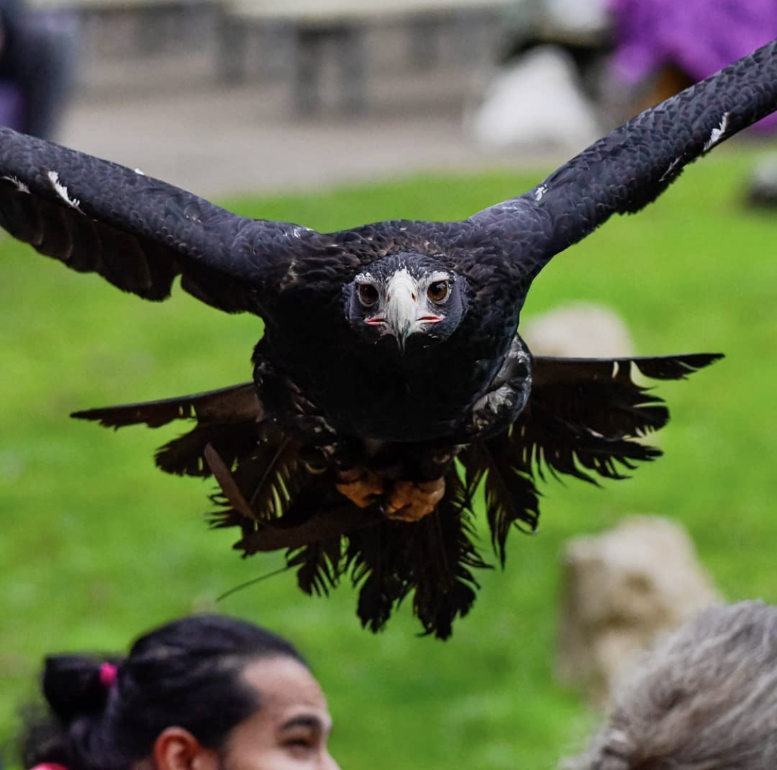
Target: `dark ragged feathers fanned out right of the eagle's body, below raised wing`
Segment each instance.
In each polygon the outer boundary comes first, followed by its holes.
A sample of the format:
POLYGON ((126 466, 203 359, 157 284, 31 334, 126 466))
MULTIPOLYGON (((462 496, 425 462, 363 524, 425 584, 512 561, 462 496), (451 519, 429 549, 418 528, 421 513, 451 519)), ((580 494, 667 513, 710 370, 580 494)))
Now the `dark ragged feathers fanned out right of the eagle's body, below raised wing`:
POLYGON ((534 477, 574 476, 623 479, 659 449, 642 439, 669 420, 664 400, 635 382, 685 379, 720 354, 650 358, 535 357, 531 395, 507 433, 476 441, 462 451, 468 496, 486 476, 486 518, 504 562, 507 534, 514 524, 534 531, 539 518, 534 477))

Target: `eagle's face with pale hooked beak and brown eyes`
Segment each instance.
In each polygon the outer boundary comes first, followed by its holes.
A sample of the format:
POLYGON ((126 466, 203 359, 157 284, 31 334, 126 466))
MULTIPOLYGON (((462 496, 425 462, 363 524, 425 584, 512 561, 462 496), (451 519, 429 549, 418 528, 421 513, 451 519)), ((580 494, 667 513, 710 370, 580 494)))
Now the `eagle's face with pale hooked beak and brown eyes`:
POLYGON ((420 254, 375 261, 347 291, 350 325, 371 342, 392 337, 401 353, 411 337, 427 343, 447 340, 466 310, 464 278, 420 254))

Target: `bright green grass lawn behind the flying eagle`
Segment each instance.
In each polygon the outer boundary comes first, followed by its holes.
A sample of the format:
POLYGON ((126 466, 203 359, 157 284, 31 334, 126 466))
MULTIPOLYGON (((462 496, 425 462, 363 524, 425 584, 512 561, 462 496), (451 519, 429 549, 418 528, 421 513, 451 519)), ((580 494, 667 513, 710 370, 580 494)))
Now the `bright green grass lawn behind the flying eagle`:
MULTIPOLYGON (((777 600, 777 222, 741 206, 753 162, 747 148, 716 152, 535 282, 524 315, 603 302, 625 317, 640 353, 727 357, 661 388, 673 421, 659 462, 604 490, 574 480, 542 487, 538 535, 512 535, 507 569, 481 576, 474 611, 447 643, 416 636, 408 608, 372 636, 357 623, 350 588, 307 598, 291 573, 217 605, 281 557, 239 559, 232 533, 208 531, 198 515, 210 484, 155 470, 154 448, 175 431, 114 435, 68 413, 246 380, 260 322, 180 291, 143 303, 2 239, 0 737, 47 651, 124 648, 148 626, 218 608, 308 654, 344 768, 551 768, 591 725, 576 695, 552 680, 566 538, 632 512, 667 514, 691 531, 727 597, 777 600)), ((423 177, 227 205, 330 230, 461 218, 541 178, 423 177)))

